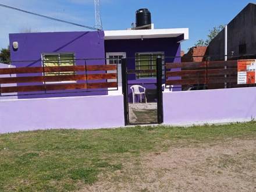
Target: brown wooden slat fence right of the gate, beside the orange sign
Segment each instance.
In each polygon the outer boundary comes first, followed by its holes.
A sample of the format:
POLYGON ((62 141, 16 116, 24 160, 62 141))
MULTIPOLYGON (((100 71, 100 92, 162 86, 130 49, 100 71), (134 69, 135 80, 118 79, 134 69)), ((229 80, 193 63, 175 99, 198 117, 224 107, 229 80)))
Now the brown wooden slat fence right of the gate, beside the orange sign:
POLYGON ((166 85, 179 85, 182 88, 202 85, 215 89, 224 88, 225 83, 227 88, 247 87, 237 85, 237 61, 166 63, 166 85))

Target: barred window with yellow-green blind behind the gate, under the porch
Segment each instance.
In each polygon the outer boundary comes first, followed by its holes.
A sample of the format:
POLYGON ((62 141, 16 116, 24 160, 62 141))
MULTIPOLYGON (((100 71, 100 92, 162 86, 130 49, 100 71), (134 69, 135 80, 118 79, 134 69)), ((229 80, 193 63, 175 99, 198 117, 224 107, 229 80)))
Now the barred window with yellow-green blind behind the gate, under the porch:
MULTIPOLYGON (((148 69, 157 69, 157 58, 161 56, 162 65, 163 61, 163 53, 162 52, 154 52, 154 53, 137 53, 136 54, 136 69, 137 70, 148 70, 148 69)), ((164 70, 164 66, 163 66, 164 70)), ((151 78, 155 77, 156 73, 140 73, 136 74, 136 79, 141 78, 151 78)))

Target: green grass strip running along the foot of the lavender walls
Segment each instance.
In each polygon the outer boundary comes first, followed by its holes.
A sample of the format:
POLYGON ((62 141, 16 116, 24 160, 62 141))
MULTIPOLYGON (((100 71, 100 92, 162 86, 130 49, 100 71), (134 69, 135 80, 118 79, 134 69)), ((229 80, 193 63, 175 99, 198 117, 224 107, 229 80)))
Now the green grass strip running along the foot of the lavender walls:
MULTIPOLYGON (((256 122, 194 127, 40 130, 0 135, 0 191, 75 191, 147 152, 254 138, 256 122)), ((223 157, 222 168, 228 159, 223 157)), ((230 161, 230 160, 229 160, 230 161)), ((139 162, 134 165, 140 166, 139 162)), ((142 191, 147 191, 147 188, 142 191)))

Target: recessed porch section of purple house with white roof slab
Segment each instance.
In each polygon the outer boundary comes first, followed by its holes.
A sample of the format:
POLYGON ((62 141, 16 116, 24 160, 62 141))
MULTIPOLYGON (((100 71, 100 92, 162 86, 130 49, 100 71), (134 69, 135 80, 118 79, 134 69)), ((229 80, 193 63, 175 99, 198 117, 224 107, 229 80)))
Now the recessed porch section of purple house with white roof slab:
MULTIPOLYGON (((127 69, 155 69, 156 59, 162 58, 163 74, 165 62, 180 62, 181 42, 189 37, 188 29, 151 29, 151 30, 120 30, 105 31, 106 58, 113 55, 116 58, 127 58, 127 69)), ((122 78, 120 60, 119 66, 119 91, 109 94, 122 94, 122 78)), ((155 74, 127 74, 128 99, 132 101, 130 87, 140 84, 145 88, 156 88, 155 74)), ((163 83, 165 79, 163 77, 163 83)), ((181 88, 173 88, 180 91, 181 88)))

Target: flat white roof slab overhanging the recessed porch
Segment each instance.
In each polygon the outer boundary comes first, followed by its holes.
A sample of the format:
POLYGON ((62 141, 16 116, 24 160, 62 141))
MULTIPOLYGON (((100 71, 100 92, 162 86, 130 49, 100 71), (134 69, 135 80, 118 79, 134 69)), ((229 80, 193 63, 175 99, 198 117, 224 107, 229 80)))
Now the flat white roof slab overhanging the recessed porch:
POLYGON ((104 31, 104 40, 129 40, 137 38, 177 37, 177 42, 189 39, 188 28, 177 29, 145 29, 145 30, 113 30, 104 31))

